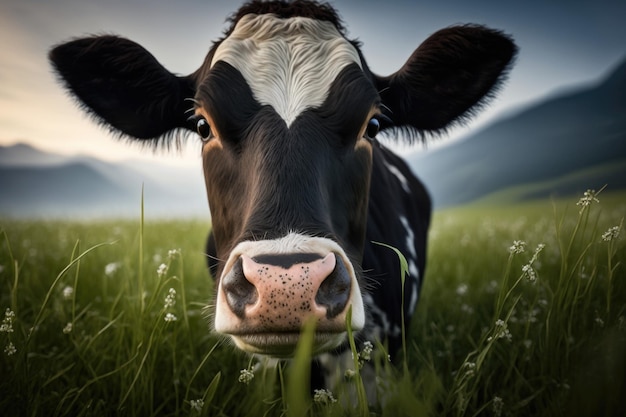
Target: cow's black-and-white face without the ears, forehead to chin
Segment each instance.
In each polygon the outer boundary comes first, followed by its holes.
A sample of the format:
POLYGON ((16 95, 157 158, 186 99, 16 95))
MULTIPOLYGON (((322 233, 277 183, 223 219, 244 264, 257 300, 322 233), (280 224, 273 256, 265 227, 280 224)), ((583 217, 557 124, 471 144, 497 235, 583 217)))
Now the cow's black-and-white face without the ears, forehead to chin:
POLYGON ((379 96, 330 22, 247 15, 214 50, 195 96, 218 268, 215 328, 240 348, 316 350, 365 314, 362 256, 379 96))

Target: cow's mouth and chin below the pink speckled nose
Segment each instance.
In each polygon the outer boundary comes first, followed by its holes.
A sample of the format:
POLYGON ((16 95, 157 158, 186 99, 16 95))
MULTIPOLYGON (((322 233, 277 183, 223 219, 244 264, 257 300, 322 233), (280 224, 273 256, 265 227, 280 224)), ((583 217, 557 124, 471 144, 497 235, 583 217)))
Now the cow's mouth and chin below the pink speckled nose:
MULTIPOLYGON (((248 353, 292 357, 298 346, 299 332, 268 332, 230 335, 237 347, 248 353)), ((316 332, 313 339, 313 354, 334 349, 344 342, 345 332, 316 332)))

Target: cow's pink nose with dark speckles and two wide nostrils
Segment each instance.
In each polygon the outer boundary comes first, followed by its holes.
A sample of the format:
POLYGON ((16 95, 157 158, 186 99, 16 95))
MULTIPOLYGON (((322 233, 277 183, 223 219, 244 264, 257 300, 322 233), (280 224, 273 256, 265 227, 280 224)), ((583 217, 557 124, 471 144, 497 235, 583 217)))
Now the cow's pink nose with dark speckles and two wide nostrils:
POLYGON ((351 276, 334 253, 242 255, 222 289, 242 323, 258 331, 297 331, 305 317, 333 321, 345 310, 351 276))

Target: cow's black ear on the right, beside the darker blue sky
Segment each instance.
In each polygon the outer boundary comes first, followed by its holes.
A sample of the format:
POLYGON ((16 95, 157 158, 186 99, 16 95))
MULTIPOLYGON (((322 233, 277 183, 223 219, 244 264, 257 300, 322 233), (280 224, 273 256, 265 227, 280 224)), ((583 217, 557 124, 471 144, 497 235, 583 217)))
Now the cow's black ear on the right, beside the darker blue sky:
POLYGON ((389 77, 376 77, 394 126, 445 130, 471 117, 506 78, 517 47, 502 32, 455 26, 424 41, 389 77))

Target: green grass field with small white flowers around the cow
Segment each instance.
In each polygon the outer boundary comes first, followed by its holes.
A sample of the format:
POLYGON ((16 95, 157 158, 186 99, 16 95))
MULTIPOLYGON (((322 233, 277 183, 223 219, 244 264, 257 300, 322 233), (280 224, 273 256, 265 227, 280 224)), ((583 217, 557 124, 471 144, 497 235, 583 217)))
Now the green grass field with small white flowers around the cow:
POLYGON ((624 416, 626 195, 595 200, 436 213, 378 404, 358 369, 311 398, 306 344, 258 366, 210 334, 208 222, 2 220, 0 415, 624 416))

